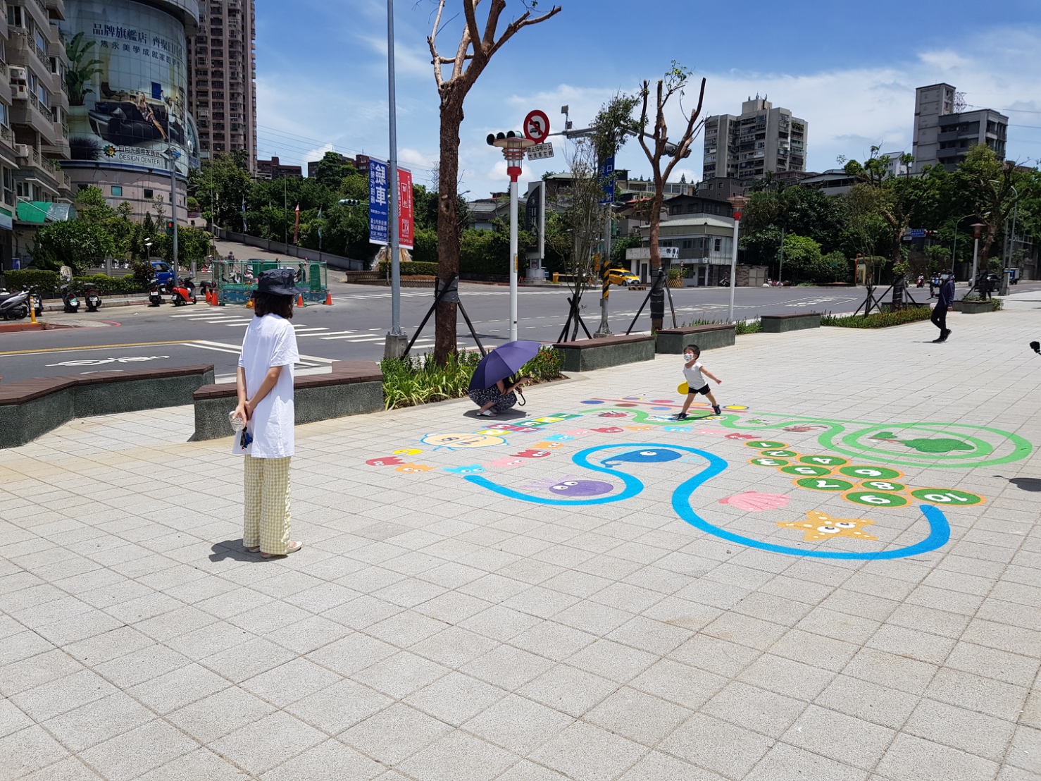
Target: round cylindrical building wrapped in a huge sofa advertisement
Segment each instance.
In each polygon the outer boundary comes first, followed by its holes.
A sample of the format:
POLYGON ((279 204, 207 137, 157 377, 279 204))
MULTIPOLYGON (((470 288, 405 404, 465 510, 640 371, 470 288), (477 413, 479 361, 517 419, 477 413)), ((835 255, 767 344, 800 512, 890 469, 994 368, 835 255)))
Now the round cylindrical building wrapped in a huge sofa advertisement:
POLYGON ((64 2, 58 19, 71 75, 65 83, 70 159, 62 173, 74 188, 100 187, 112 206, 129 203, 137 218, 169 217, 173 168, 177 217, 184 221, 188 170, 199 165, 185 70, 197 1, 54 2, 64 2))

